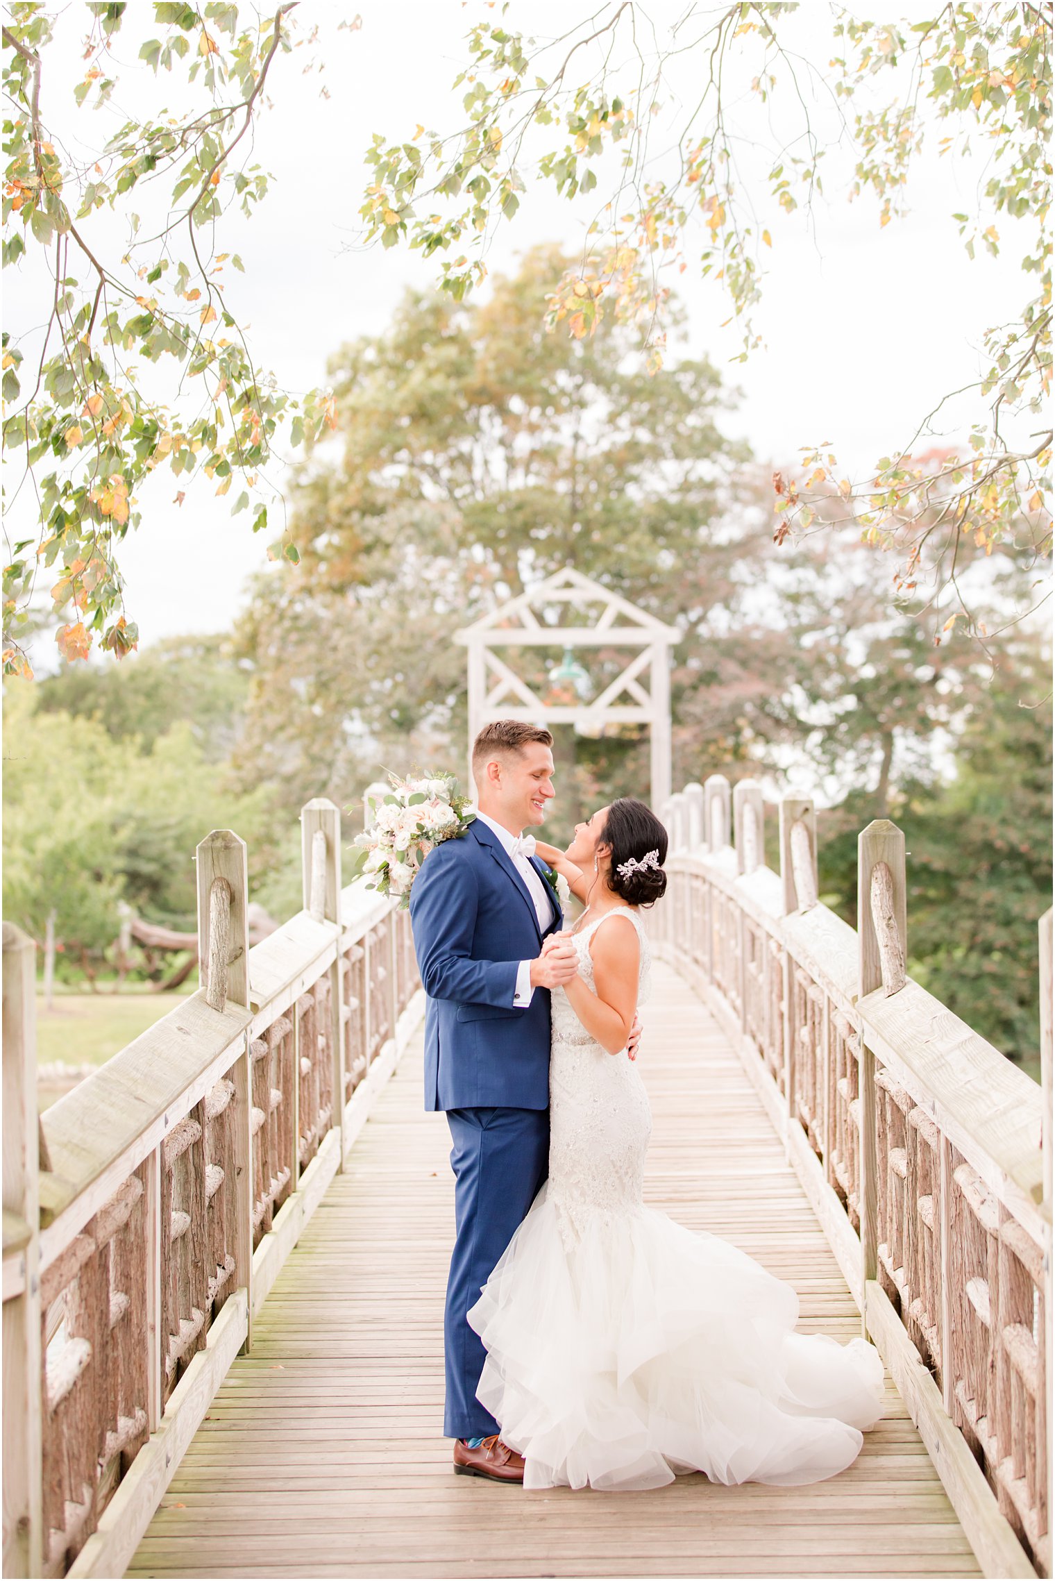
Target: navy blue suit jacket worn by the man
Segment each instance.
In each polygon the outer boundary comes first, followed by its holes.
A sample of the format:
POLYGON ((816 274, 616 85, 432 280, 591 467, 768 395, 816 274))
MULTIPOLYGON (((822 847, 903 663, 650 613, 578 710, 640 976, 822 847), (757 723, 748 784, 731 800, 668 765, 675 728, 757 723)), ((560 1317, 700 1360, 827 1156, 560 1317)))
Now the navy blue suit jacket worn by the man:
MULTIPOLYGON (((545 882, 545 863, 531 862, 545 882)), ((513 991, 520 963, 534 960, 562 923, 556 901, 540 930, 528 885, 477 819, 426 855, 411 922, 428 994, 425 1108, 548 1108, 550 993, 535 988, 516 1009, 513 991)))

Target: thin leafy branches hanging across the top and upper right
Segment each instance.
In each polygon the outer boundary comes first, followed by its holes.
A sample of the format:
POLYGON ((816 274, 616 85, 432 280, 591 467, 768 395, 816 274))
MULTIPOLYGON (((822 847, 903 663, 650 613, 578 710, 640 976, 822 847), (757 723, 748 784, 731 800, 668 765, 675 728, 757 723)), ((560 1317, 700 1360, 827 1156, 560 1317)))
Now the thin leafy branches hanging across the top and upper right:
MULTIPOLYGON (((760 300, 771 226, 799 206, 813 212, 824 158, 850 141, 848 196, 869 191, 880 225, 905 209, 905 182, 924 142, 951 161, 984 139, 987 164, 973 215, 956 213, 973 256, 997 251, 1001 228, 1025 237, 1027 300, 987 335, 987 367, 971 386, 963 443, 935 451, 933 421, 952 397, 892 433, 889 454, 858 482, 828 449, 804 446, 802 476, 777 481, 785 536, 809 530, 817 501, 843 500, 843 522, 869 544, 894 547, 902 594, 951 588, 962 533, 987 550, 1004 542, 1050 553, 1050 8, 957 0, 921 21, 861 22, 832 6, 834 58, 805 58, 782 3, 689 5, 660 33, 636 0, 611 0, 558 40, 537 41, 501 17, 469 33, 456 76, 464 122, 387 142, 374 136, 374 179, 362 206, 366 237, 409 240, 441 261, 441 283, 464 297, 486 275, 494 226, 515 218, 520 193, 542 177, 589 220, 583 256, 551 277, 546 318, 576 338, 602 319, 640 326, 652 365, 663 356, 670 270, 714 274, 760 345, 760 300), (883 79, 892 98, 884 101, 883 79), (673 112, 670 106, 674 106, 673 112), (657 128, 660 128, 657 131, 657 128), (761 150, 761 152, 760 152, 761 150), (455 256, 456 255, 456 256, 455 256), (693 262, 695 266, 695 262, 693 262), (1031 427, 1030 427, 1031 425, 1031 427), (968 438, 970 435, 970 438, 968 438), (929 452, 921 455, 919 451, 929 452)), ((828 57, 829 51, 824 51, 828 57)), ((970 177, 970 171, 967 175, 970 177)), ((968 180, 965 180, 968 185, 968 180)), ((933 620, 933 601, 924 606, 933 620)))

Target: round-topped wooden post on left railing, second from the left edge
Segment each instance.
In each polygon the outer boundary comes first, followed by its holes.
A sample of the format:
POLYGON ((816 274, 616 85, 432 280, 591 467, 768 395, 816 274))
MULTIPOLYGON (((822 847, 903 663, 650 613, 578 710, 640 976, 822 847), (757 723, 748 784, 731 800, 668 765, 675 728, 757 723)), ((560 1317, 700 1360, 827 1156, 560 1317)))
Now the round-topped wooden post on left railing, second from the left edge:
MULTIPOLYGON (((215 828, 194 852, 197 865, 197 958, 202 988, 213 1009, 227 1001, 251 1009, 250 1002, 250 879, 245 840, 229 828, 215 828), (226 934, 226 938, 224 938, 226 934), (223 947, 221 947, 223 945, 223 947)), ((248 1040, 231 1069, 234 1081, 235 1213, 234 1273, 231 1289, 245 1287, 250 1349, 253 1331, 253 1055, 248 1040)), ((294 1127, 295 1156, 295 1127, 294 1127)), ((161 1160, 164 1170, 164 1160, 161 1160)), ((164 1233, 167 1227, 161 1225, 164 1233)), ((161 1347, 167 1334, 161 1334, 161 1347)), ((163 1358, 164 1360, 164 1355, 163 1358)))

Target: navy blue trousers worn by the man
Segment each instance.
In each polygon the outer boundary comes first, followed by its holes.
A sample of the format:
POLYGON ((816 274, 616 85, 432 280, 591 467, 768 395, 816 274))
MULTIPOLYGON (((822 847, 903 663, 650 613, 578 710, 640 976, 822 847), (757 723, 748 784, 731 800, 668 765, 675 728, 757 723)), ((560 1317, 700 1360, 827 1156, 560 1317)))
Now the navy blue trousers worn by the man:
POLYGON ((485 1439, 497 1423, 477 1399, 486 1355, 466 1312, 531 1208, 550 1164, 550 1110, 450 1108, 455 1249, 447 1279, 444 1360, 449 1439, 485 1439))

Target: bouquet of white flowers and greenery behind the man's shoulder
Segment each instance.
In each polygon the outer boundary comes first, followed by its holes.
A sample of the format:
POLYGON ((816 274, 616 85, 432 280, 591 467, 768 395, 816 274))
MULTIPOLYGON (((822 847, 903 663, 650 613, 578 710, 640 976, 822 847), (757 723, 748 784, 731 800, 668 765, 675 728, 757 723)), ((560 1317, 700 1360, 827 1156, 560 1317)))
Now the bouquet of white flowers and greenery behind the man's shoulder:
POLYGON ((382 895, 398 895, 406 911, 411 885, 422 862, 441 840, 463 835, 475 813, 469 797, 458 792, 453 775, 389 775, 392 790, 374 809, 371 828, 355 836, 352 877, 370 874, 366 889, 382 895))

